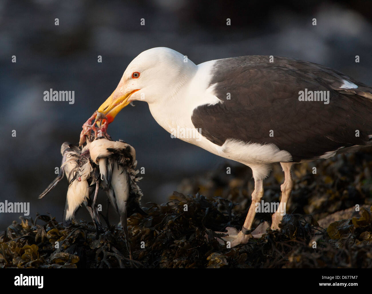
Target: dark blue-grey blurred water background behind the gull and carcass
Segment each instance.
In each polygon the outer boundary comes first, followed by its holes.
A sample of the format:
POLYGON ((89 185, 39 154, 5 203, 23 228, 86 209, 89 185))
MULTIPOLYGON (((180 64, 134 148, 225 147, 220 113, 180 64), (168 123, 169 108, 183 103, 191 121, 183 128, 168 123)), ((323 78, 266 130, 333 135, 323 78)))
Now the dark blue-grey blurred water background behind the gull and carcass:
MULTIPOLYGON (((281 55, 323 64, 372 85, 371 19, 372 1, 360 0, 2 0, 0 202, 27 201, 30 216, 49 212, 62 220, 66 179, 43 200, 37 199, 56 176, 60 146, 78 142, 81 125, 116 88, 129 62, 146 49, 169 47, 195 64, 240 55, 281 55), (75 91, 75 103, 45 102, 43 92, 50 88, 75 91)), ((109 133, 134 146, 138 167, 145 167, 143 205, 163 203, 183 178, 226 162, 171 139, 146 103, 126 107, 109 133)), ((0 213, 0 230, 18 216, 0 213)), ((77 217, 89 219, 85 209, 77 217)))

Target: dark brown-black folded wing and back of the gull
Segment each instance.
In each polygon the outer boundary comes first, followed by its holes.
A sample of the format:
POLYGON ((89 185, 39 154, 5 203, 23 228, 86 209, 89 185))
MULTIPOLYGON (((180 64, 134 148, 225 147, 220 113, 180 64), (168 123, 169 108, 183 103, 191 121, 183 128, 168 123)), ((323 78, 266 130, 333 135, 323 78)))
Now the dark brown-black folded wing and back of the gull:
POLYGON ((192 123, 219 146, 227 139, 273 143, 299 162, 371 143, 372 88, 347 75, 296 59, 269 62, 268 56, 221 59, 211 74, 212 93, 222 102, 196 107, 192 123), (299 101, 305 89, 329 91, 329 103, 299 101))

